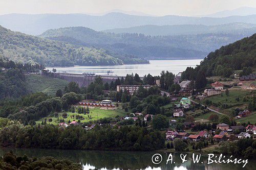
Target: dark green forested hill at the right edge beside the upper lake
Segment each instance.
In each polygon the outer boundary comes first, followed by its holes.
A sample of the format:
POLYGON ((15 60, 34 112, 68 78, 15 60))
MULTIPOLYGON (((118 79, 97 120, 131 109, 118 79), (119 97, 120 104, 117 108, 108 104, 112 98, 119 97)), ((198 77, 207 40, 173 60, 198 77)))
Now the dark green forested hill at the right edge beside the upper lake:
POLYGON ((256 34, 222 46, 208 54, 200 64, 206 76, 223 76, 246 67, 256 67, 256 34))

